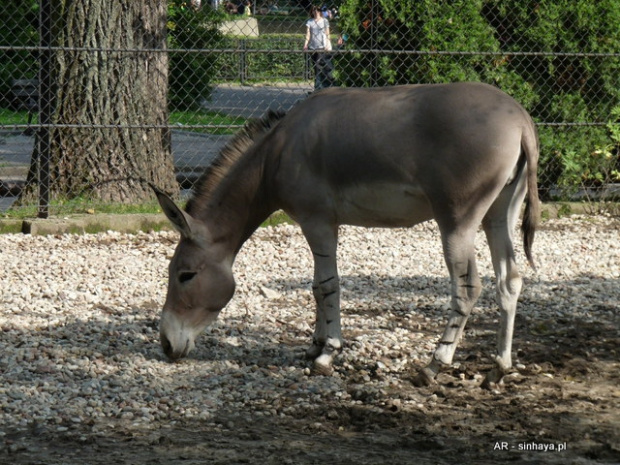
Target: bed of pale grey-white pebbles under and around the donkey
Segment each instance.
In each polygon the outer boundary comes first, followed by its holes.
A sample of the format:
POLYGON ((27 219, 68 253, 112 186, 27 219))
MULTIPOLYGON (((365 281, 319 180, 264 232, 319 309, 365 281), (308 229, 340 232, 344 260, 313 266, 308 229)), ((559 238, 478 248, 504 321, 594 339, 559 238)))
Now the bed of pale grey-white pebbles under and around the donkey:
MULTIPOLYGON (((597 321, 617 309, 618 231, 618 220, 604 216, 544 223, 534 243, 537 272, 526 265, 519 241, 524 321, 546 334, 558 318, 597 321)), ((346 340, 329 377, 311 376, 304 360, 314 327, 313 260, 291 225, 252 236, 235 263, 236 295, 219 321, 189 359, 167 362, 157 328, 177 238, 173 232, 0 235, 5 431, 34 421, 58 432, 85 423, 105 429, 111 421, 143 427, 215 421, 223 407, 297 417, 334 399, 392 411, 423 410, 442 400, 437 393, 423 400, 410 387, 403 390, 410 386, 411 364, 428 361, 447 321, 449 282, 434 223, 341 228, 346 340)), ((482 233, 477 249, 485 288, 471 322, 479 328, 468 338, 484 336, 480 328, 496 326, 498 318, 482 233)), ((544 364, 521 357, 516 368, 545 372, 544 364)), ((328 409, 326 416, 337 419, 338 411, 328 409)), ((232 421, 222 426, 235 427, 232 421)))

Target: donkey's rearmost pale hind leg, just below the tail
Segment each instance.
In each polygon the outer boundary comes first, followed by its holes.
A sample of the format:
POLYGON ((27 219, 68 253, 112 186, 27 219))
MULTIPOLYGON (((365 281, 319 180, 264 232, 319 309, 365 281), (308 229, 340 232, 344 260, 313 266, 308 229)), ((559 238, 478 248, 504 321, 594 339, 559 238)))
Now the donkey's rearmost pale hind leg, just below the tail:
POLYGON ((497 281, 497 303, 500 310, 495 367, 482 383, 482 386, 487 389, 499 383, 512 367, 512 337, 517 300, 522 286, 522 279, 515 262, 513 232, 526 188, 525 176, 521 176, 517 182, 502 191, 482 222, 491 249, 491 260, 497 281))

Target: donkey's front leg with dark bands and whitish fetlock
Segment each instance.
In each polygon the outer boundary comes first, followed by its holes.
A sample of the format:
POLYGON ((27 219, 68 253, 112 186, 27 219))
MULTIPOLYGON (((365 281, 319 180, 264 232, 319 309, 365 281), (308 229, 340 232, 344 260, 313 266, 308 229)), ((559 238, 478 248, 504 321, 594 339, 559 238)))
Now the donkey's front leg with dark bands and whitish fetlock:
POLYGON ((336 263, 338 228, 310 223, 302 226, 302 230, 314 257, 312 292, 316 301, 316 326, 306 355, 314 360, 315 374, 330 375, 332 361, 342 350, 340 279, 336 263))

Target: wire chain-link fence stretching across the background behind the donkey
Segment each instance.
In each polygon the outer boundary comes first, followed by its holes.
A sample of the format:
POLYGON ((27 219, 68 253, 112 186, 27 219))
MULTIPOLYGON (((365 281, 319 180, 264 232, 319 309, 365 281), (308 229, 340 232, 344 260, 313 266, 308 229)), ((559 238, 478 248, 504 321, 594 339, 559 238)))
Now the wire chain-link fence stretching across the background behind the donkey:
POLYGON ((620 195, 617 2, 310 6, 0 0, 0 210, 138 209, 147 181, 191 190, 248 118, 316 88, 466 80, 534 117, 543 199, 620 195))

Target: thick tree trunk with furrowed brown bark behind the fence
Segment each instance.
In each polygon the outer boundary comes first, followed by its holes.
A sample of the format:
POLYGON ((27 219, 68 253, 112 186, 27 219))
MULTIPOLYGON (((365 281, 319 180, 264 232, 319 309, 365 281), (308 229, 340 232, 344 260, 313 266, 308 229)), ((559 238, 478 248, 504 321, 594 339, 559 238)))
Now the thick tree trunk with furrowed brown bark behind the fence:
POLYGON ((152 199, 148 182, 178 190, 164 128, 166 0, 52 4, 52 199, 135 203, 152 199))

